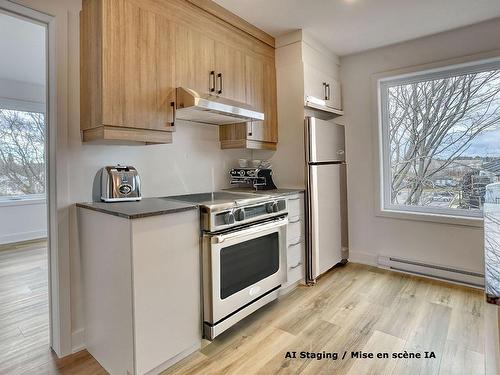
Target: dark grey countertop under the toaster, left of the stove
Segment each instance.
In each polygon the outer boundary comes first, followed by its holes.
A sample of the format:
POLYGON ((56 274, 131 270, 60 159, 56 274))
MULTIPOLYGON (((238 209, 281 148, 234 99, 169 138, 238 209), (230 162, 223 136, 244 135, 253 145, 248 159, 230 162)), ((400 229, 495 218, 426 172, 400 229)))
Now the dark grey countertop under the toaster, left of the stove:
POLYGON ((169 198, 142 198, 142 200, 136 202, 77 203, 76 206, 123 217, 125 219, 140 219, 148 216, 165 215, 198 208, 196 204, 176 201, 169 198))

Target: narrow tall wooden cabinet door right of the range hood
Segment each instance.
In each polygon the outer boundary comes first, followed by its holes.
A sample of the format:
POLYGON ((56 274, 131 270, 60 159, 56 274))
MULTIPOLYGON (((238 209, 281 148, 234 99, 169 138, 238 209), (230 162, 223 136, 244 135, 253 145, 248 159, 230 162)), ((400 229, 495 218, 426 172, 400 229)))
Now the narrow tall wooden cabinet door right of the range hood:
POLYGON ((274 61, 246 56, 246 101, 264 112, 264 121, 247 123, 247 139, 278 142, 274 61))

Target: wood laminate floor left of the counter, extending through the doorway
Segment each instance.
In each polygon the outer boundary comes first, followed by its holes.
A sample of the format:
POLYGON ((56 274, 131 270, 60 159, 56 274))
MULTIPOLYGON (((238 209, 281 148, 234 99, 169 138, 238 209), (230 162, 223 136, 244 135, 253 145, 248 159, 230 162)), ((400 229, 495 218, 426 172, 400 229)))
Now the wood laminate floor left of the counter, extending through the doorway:
POLYGON ((49 347, 47 244, 0 245, 0 374, 106 374, 86 351, 49 347))

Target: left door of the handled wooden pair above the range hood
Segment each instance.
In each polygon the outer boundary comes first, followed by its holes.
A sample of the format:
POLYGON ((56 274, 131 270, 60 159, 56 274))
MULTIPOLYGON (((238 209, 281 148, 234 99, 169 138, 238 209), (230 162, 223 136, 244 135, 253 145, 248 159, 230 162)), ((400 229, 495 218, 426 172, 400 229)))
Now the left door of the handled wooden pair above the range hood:
POLYGON ((175 27, 175 74, 177 86, 211 93, 210 72, 215 70, 215 42, 186 26, 175 27))

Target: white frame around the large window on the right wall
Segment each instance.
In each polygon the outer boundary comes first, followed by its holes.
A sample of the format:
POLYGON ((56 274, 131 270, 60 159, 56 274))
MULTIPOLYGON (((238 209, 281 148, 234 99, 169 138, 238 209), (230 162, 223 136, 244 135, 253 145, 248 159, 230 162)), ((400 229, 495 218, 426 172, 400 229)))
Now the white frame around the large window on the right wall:
POLYGON ((376 81, 378 111, 378 148, 380 169, 379 215, 394 218, 420 219, 424 221, 441 221, 452 224, 480 226, 482 210, 456 208, 438 208, 425 206, 408 206, 391 202, 391 167, 390 144, 388 136, 388 88, 424 80, 447 78, 456 75, 479 73, 487 70, 500 70, 500 57, 442 66, 434 69, 413 71, 410 73, 386 76, 376 81))

